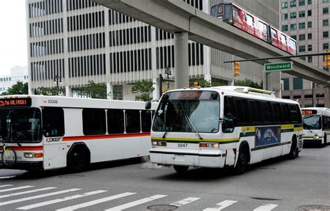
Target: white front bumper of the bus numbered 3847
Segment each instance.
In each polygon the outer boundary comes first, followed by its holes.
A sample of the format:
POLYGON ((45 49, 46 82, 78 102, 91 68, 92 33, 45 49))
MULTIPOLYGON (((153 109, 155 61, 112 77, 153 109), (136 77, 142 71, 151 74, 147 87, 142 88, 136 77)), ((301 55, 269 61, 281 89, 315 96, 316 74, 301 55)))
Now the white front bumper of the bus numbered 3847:
POLYGON ((150 161, 161 165, 222 168, 226 155, 221 150, 151 149, 150 161))

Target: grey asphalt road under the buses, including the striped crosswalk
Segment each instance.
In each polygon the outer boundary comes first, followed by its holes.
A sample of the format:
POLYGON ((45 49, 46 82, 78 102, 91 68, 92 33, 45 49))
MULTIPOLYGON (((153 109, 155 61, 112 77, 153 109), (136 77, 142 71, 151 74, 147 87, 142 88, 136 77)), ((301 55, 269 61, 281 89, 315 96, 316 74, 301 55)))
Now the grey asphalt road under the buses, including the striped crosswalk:
POLYGON ((267 160, 244 175, 223 169, 179 175, 136 160, 81 173, 0 169, 0 210, 330 210, 329 163, 327 146, 304 148, 294 160, 267 160))

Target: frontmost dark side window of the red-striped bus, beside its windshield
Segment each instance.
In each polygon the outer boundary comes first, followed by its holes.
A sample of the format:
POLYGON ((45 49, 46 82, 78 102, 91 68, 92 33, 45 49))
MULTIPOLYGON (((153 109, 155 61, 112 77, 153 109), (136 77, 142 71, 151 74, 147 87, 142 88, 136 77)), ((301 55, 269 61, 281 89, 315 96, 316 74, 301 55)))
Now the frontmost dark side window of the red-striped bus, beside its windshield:
POLYGON ((42 130, 49 137, 64 136, 64 111, 62 108, 42 108, 42 130))

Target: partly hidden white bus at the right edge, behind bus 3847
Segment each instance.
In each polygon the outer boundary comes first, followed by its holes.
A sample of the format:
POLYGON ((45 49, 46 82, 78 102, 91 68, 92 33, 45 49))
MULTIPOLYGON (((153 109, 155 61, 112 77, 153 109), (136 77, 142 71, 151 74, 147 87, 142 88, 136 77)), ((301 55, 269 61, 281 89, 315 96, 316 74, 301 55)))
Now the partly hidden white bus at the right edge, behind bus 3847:
POLYGON ((330 137, 330 109, 313 107, 301 109, 304 143, 327 145, 330 137))

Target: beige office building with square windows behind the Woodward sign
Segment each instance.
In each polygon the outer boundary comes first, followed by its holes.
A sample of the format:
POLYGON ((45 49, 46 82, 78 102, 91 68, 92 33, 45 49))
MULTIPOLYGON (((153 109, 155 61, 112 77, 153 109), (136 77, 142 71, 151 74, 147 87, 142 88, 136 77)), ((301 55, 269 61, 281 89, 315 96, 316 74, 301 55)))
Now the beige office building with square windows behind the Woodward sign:
MULTIPOLYGON (((329 49, 329 0, 281 0, 281 30, 297 40, 299 55, 329 49)), ((324 68, 323 56, 301 56, 306 63, 324 68)), ((301 107, 330 107, 324 84, 282 74, 283 98, 298 100, 301 107)))

